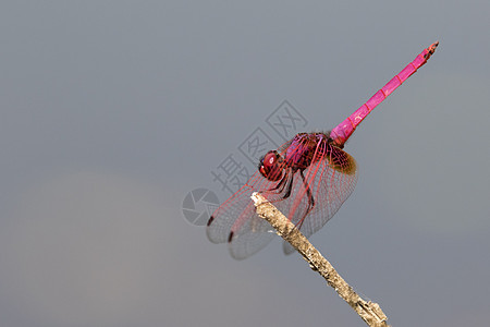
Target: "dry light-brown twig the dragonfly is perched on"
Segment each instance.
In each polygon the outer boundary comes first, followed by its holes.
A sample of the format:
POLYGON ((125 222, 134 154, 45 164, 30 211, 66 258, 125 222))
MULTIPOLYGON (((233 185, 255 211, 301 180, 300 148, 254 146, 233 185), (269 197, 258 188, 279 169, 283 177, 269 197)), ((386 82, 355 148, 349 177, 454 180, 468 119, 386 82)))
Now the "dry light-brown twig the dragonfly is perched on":
POLYGON ((375 302, 363 300, 348 283, 335 271, 333 266, 311 245, 308 239, 287 219, 281 211, 271 205, 267 198, 259 193, 252 194, 257 215, 266 219, 309 264, 314 271, 318 271, 338 294, 351 305, 352 308, 369 326, 388 327, 388 317, 375 302))

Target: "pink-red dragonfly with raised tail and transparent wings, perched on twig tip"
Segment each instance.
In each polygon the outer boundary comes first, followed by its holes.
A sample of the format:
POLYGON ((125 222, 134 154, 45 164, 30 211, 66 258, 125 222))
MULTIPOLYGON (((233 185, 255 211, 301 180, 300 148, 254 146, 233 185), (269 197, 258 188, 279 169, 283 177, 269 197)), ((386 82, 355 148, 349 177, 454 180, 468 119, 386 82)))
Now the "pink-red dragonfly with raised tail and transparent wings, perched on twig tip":
MULTIPOLYGON (((427 62, 438 44, 424 49, 330 133, 299 133, 279 149, 268 152, 250 180, 209 218, 209 240, 228 242, 236 259, 253 255, 272 240, 272 227, 255 213, 253 192, 260 192, 305 237, 322 228, 351 195, 357 181, 356 161, 342 149, 345 142, 376 106, 427 62)), ((283 249, 286 254, 293 252, 286 242, 283 249)))

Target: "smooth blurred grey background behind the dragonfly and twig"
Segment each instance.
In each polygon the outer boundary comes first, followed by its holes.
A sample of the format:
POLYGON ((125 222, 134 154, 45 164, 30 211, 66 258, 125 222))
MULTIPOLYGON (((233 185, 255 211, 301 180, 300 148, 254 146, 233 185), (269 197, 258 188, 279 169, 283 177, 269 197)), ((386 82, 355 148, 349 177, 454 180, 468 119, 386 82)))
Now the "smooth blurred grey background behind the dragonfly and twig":
POLYGON ((2 326, 363 326, 275 241, 233 261, 181 205, 287 99, 346 146, 316 246, 394 326, 490 320, 489 1, 4 1, 2 326))

